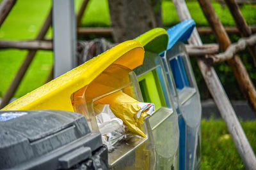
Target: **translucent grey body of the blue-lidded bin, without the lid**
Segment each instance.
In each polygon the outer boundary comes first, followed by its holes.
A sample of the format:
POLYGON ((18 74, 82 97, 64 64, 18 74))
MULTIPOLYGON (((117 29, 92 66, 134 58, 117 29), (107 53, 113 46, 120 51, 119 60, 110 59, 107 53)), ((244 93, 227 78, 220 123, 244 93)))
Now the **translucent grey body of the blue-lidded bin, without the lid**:
POLYGON ((185 169, 200 168, 200 94, 184 43, 177 42, 165 53, 179 96, 179 109, 185 133, 185 169))

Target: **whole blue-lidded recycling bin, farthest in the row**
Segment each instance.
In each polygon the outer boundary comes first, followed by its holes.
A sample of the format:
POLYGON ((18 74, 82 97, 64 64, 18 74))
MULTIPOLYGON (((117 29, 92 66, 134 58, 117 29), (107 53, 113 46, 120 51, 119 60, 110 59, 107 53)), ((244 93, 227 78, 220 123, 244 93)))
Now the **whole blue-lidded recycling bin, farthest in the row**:
POLYGON ((180 129, 180 169, 200 169, 202 108, 195 76, 183 43, 189 38, 194 27, 193 20, 186 20, 168 29, 168 47, 161 53, 168 81, 175 82, 170 89, 173 96, 177 96, 176 102, 179 105, 177 110, 180 129))

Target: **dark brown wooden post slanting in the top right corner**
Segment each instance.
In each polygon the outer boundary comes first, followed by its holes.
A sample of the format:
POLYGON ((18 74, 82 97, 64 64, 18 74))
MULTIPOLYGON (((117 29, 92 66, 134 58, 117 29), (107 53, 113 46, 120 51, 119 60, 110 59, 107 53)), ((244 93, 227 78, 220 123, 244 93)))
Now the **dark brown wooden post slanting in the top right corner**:
MULTIPOLYGON (((252 31, 250 27, 247 25, 246 20, 244 20, 244 17, 239 9, 238 4, 236 3, 235 0, 225 0, 230 13, 232 14, 235 22, 236 22, 236 27, 241 32, 242 36, 248 37, 252 35, 252 31)), ((249 46, 248 47, 249 52, 251 53, 254 63, 256 64, 256 48, 255 46, 249 46)))

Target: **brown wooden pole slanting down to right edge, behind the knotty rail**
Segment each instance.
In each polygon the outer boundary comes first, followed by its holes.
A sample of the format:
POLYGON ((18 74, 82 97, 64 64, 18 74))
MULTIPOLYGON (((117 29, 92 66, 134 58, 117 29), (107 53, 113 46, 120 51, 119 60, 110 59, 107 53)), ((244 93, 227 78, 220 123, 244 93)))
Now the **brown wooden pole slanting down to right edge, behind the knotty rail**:
MULTIPOLYGON (((223 25, 220 22, 220 19, 216 15, 214 8, 211 5, 211 1, 198 0, 204 15, 208 20, 209 25, 211 25, 218 42, 220 43, 221 50, 227 50, 228 46, 231 44, 230 39, 228 38, 227 32, 223 25)), ((251 108, 253 109, 256 115, 256 91, 253 87, 253 83, 248 75, 246 68, 244 67, 241 59, 235 55, 232 59, 228 60, 234 74, 236 76, 237 83, 241 91, 244 94, 244 97, 247 99, 251 108)))

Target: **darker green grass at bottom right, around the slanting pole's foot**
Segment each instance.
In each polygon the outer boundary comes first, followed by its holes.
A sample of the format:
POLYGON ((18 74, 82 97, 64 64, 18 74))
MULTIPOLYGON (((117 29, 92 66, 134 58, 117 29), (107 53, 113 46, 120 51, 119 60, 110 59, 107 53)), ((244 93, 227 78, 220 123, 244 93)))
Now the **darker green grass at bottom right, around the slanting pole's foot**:
MULTIPOLYGON (((241 123, 256 153, 256 121, 241 123)), ((202 169, 245 169, 223 120, 202 120, 202 169)))

